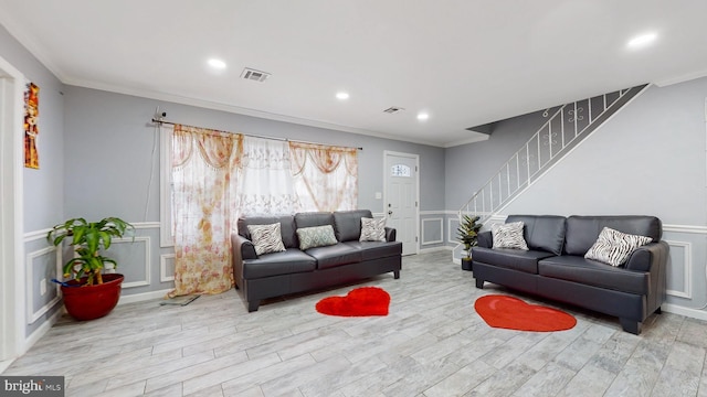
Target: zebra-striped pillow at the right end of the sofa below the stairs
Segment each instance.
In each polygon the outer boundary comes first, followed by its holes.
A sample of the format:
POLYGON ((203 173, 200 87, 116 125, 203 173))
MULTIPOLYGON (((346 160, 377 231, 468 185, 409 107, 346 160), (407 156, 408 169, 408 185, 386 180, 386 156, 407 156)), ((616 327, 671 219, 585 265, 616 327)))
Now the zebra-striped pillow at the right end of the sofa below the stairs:
POLYGON ((584 258, 621 266, 636 248, 651 242, 653 242, 651 237, 630 235, 604 227, 594 245, 584 254, 584 258))

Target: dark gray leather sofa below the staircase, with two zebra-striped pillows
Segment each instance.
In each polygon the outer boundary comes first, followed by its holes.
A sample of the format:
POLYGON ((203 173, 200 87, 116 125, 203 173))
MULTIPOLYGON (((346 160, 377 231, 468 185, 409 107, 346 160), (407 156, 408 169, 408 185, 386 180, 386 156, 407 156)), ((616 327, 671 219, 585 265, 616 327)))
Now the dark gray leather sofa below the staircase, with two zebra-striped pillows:
POLYGON ((492 248, 492 233, 479 234, 472 249, 476 288, 489 281, 614 315, 634 334, 648 315, 661 312, 668 245, 661 240, 657 217, 510 215, 506 223, 518 221, 525 224, 529 250, 492 248), (639 247, 619 267, 585 259, 604 226, 653 243, 639 247))

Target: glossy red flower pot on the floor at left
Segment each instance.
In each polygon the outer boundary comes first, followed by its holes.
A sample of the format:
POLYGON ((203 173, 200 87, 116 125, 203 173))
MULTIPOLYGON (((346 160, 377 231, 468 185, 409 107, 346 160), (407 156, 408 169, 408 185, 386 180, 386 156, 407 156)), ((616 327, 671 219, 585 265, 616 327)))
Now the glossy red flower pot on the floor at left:
POLYGON ((120 299, 120 285, 123 275, 103 275, 103 283, 98 286, 83 286, 86 278, 66 281, 70 286, 62 286, 64 307, 71 316, 76 320, 94 320, 108 314, 120 299))

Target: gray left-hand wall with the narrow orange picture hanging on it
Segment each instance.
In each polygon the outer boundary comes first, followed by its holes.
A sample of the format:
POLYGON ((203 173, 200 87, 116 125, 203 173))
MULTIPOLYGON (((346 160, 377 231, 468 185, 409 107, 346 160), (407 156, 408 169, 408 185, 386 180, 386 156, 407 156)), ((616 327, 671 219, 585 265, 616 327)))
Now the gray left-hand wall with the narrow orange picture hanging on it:
MULTIPOLYGON (((59 223, 63 216, 64 180, 64 97, 63 85, 32 56, 8 31, 0 26, 0 57, 19 69, 24 77, 40 87, 38 151, 40 169, 24 169, 23 179, 23 264, 30 300, 27 305, 32 313, 27 315, 25 334, 30 335, 61 308, 53 302, 55 292, 48 285, 48 292, 40 293, 40 280, 55 277, 56 255, 44 243, 42 230, 59 223), (33 314, 43 313, 33 320, 33 314)), ((9 173, 12 170, 2 170, 9 173)), ((12 266, 2 264, 2 266, 12 266)), ((24 300, 24 299, 23 299, 24 300)))

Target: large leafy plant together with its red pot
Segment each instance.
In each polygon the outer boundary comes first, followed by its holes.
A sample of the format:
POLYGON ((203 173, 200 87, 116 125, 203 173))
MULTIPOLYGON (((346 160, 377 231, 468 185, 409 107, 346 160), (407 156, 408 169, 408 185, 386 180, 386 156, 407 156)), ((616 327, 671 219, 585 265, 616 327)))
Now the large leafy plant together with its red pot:
POLYGON ((108 314, 118 303, 123 275, 104 273, 105 265, 117 267, 115 259, 103 255, 114 237, 133 233, 135 227, 117 218, 106 217, 98 222, 72 218, 54 226, 46 240, 54 246, 64 240, 74 248, 74 256, 64 265, 61 290, 64 307, 76 320, 93 320, 108 314))

